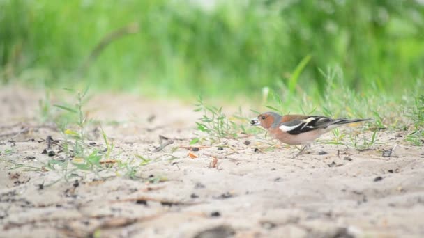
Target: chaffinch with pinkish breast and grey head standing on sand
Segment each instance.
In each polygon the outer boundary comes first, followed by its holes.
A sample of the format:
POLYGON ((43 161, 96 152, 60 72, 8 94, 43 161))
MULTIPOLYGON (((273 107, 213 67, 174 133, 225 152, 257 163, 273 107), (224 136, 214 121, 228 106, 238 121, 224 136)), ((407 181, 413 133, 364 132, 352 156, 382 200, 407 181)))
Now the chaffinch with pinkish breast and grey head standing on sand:
MULTIPOLYGON (((306 148, 310 148, 317 138, 322 134, 330 132, 332 129, 355 122, 372 120, 329 118, 326 116, 306 116, 306 115, 280 115, 273 111, 261 113, 257 118, 250 120, 252 126, 262 126, 273 138, 278 139, 287 145, 303 145, 298 154, 301 155, 306 148)), ((297 148, 297 147, 296 147, 297 148)))

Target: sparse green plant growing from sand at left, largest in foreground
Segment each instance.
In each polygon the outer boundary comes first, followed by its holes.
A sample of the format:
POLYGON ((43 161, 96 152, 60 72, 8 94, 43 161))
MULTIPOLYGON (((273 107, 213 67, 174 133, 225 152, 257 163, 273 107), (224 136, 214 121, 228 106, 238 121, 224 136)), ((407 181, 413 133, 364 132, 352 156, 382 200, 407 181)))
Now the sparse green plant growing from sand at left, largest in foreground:
MULTIPOLYGON (((101 136, 105 144, 105 150, 93 148, 89 143, 89 127, 94 125, 93 121, 87 118, 84 111, 84 104, 87 102, 87 87, 82 93, 75 90, 66 89, 70 93, 75 93, 74 104, 55 104, 63 113, 57 117, 56 124, 61 132, 63 132, 63 143, 61 148, 66 152, 68 158, 64 160, 50 159, 46 168, 63 172, 63 177, 68 180, 68 176, 82 171, 93 172, 100 177, 100 171, 114 169, 117 176, 125 176, 130 179, 139 179, 136 173, 140 166, 149 164, 150 160, 143 159, 142 162, 136 163, 134 159, 121 161, 116 159, 119 156, 113 153, 114 142, 107 138, 103 127, 100 125, 101 136)), ((141 158, 141 157, 140 157, 141 158)), ((140 159, 139 158, 139 159, 140 159)))

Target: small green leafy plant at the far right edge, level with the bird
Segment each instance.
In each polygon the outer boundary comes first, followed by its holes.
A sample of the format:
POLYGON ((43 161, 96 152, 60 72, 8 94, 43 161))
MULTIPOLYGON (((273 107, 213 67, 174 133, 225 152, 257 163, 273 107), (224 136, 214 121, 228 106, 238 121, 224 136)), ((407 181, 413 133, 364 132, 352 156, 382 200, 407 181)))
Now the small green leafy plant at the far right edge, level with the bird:
POLYGON ((424 144, 424 95, 415 98, 414 105, 407 109, 405 116, 412 120, 412 132, 406 136, 414 145, 424 144))

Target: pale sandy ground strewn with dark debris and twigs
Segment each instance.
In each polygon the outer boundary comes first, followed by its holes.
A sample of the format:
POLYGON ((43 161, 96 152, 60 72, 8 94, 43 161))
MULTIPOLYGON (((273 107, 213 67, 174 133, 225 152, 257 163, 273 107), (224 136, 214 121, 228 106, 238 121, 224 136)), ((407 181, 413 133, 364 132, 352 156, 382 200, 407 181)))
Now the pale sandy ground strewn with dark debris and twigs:
MULTIPOLYGON (((114 141, 112 158, 156 161, 139 167, 142 180, 105 170, 66 181, 45 168, 66 158, 57 145, 42 154, 47 136, 62 138, 38 122, 42 97, 0 89, 0 237, 424 237, 424 150, 404 132, 381 132, 365 151, 317 143, 296 159, 285 146, 255 152, 266 144, 250 136, 191 159, 174 148, 195 137, 192 106, 104 94, 88 108, 114 141), (174 144, 153 152, 159 135, 174 144)), ((91 141, 105 146, 98 133, 91 141)))

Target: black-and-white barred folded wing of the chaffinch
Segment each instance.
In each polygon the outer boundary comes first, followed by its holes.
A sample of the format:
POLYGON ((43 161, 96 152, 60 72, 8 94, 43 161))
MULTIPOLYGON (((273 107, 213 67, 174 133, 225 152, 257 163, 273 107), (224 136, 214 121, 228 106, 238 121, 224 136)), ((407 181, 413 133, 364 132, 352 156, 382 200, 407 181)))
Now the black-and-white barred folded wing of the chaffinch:
POLYGON ((325 116, 287 115, 282 119, 279 128, 283 132, 297 135, 314 129, 326 128, 333 121, 333 119, 325 116))

